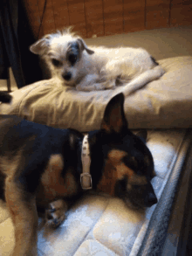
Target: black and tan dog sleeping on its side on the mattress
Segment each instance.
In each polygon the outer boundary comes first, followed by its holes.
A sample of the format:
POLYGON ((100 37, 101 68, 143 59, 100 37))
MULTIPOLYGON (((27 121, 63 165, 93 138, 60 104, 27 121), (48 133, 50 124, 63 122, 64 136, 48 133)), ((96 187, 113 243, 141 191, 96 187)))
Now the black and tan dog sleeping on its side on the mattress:
MULTIPOLYGON (((150 183, 153 157, 141 138, 127 128, 123 104, 122 93, 114 96, 106 106, 100 130, 88 133, 93 190, 139 208, 150 207, 157 203, 150 183)), ((0 194, 15 227, 12 255, 37 255, 38 206, 49 206, 48 222, 59 225, 64 211, 83 194, 83 138, 72 129, 0 116, 0 194)))

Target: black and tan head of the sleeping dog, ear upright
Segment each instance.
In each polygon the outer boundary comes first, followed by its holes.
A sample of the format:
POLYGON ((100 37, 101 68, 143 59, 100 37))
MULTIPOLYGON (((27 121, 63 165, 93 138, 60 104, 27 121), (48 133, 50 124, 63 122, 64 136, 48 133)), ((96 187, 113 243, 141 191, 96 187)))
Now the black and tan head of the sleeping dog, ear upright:
POLYGON ((137 208, 150 207, 157 203, 150 183, 153 157, 143 139, 127 128, 123 104, 122 93, 113 97, 106 106, 101 129, 89 133, 93 188, 137 208))

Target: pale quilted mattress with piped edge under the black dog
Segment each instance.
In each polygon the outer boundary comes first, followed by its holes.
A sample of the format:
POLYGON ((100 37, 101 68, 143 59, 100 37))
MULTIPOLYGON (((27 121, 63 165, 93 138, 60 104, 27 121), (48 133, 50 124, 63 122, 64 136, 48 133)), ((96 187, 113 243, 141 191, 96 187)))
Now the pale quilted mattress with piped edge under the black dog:
MULTIPOLYGON (((118 198, 87 194, 58 229, 45 227, 39 218, 40 256, 175 255, 189 190, 191 168, 186 163, 191 157, 191 131, 148 130, 147 137, 154 156, 152 183, 158 204, 133 211, 118 198)), ((13 225, 1 202, 0 255, 11 255, 13 246, 13 225)))

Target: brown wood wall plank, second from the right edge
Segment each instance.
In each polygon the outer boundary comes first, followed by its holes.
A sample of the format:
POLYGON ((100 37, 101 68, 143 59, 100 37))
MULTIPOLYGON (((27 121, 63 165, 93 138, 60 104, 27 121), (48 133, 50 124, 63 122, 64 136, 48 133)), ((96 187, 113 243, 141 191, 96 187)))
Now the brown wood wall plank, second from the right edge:
POLYGON ((146 28, 165 28, 169 25, 170 0, 146 1, 146 28))

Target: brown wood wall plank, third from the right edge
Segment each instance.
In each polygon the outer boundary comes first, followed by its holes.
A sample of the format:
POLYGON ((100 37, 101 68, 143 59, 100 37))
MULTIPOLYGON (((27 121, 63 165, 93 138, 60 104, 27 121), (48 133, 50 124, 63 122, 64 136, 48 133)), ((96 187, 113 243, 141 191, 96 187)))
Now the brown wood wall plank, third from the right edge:
POLYGON ((124 31, 145 30, 145 0, 124 1, 124 31))

